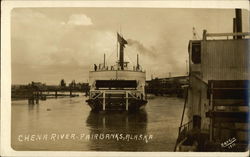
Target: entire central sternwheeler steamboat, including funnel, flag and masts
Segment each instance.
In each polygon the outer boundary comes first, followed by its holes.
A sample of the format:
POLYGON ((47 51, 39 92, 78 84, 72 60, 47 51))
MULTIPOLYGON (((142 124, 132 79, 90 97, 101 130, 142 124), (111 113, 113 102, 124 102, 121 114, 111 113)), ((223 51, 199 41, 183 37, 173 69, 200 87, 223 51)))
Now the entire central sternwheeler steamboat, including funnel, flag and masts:
POLYGON ((119 43, 119 60, 113 66, 104 63, 94 65, 89 72, 89 99, 88 105, 94 111, 126 110, 136 111, 146 104, 145 80, 146 72, 137 64, 131 69, 124 61, 124 48, 127 41, 117 33, 119 43))

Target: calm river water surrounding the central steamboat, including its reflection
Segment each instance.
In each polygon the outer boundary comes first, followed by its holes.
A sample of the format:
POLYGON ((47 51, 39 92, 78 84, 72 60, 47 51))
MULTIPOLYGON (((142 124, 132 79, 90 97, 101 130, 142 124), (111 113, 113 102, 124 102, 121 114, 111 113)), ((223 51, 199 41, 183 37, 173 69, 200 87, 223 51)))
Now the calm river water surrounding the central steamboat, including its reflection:
POLYGON ((15 150, 173 151, 184 100, 149 99, 138 113, 92 113, 87 98, 12 101, 15 150))

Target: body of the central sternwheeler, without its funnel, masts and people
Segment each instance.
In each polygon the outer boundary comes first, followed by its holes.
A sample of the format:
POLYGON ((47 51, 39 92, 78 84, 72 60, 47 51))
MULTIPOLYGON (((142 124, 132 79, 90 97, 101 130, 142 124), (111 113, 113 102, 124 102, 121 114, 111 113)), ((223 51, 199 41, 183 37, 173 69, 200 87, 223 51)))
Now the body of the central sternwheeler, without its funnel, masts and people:
POLYGON ((144 72, 90 72, 90 84, 92 88, 86 102, 92 110, 136 111, 147 104, 144 72))

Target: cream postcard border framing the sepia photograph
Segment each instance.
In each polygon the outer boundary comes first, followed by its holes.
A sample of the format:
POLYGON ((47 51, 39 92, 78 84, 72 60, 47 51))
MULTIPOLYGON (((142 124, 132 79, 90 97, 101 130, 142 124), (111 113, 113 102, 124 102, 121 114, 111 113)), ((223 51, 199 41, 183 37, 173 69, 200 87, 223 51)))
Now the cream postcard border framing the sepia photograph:
POLYGON ((90 151, 15 151, 11 148, 11 49, 10 13, 17 7, 140 7, 140 8, 242 8, 248 0, 227 1, 2 1, 1 3, 1 156, 249 156, 243 153, 194 152, 90 152, 90 151))

